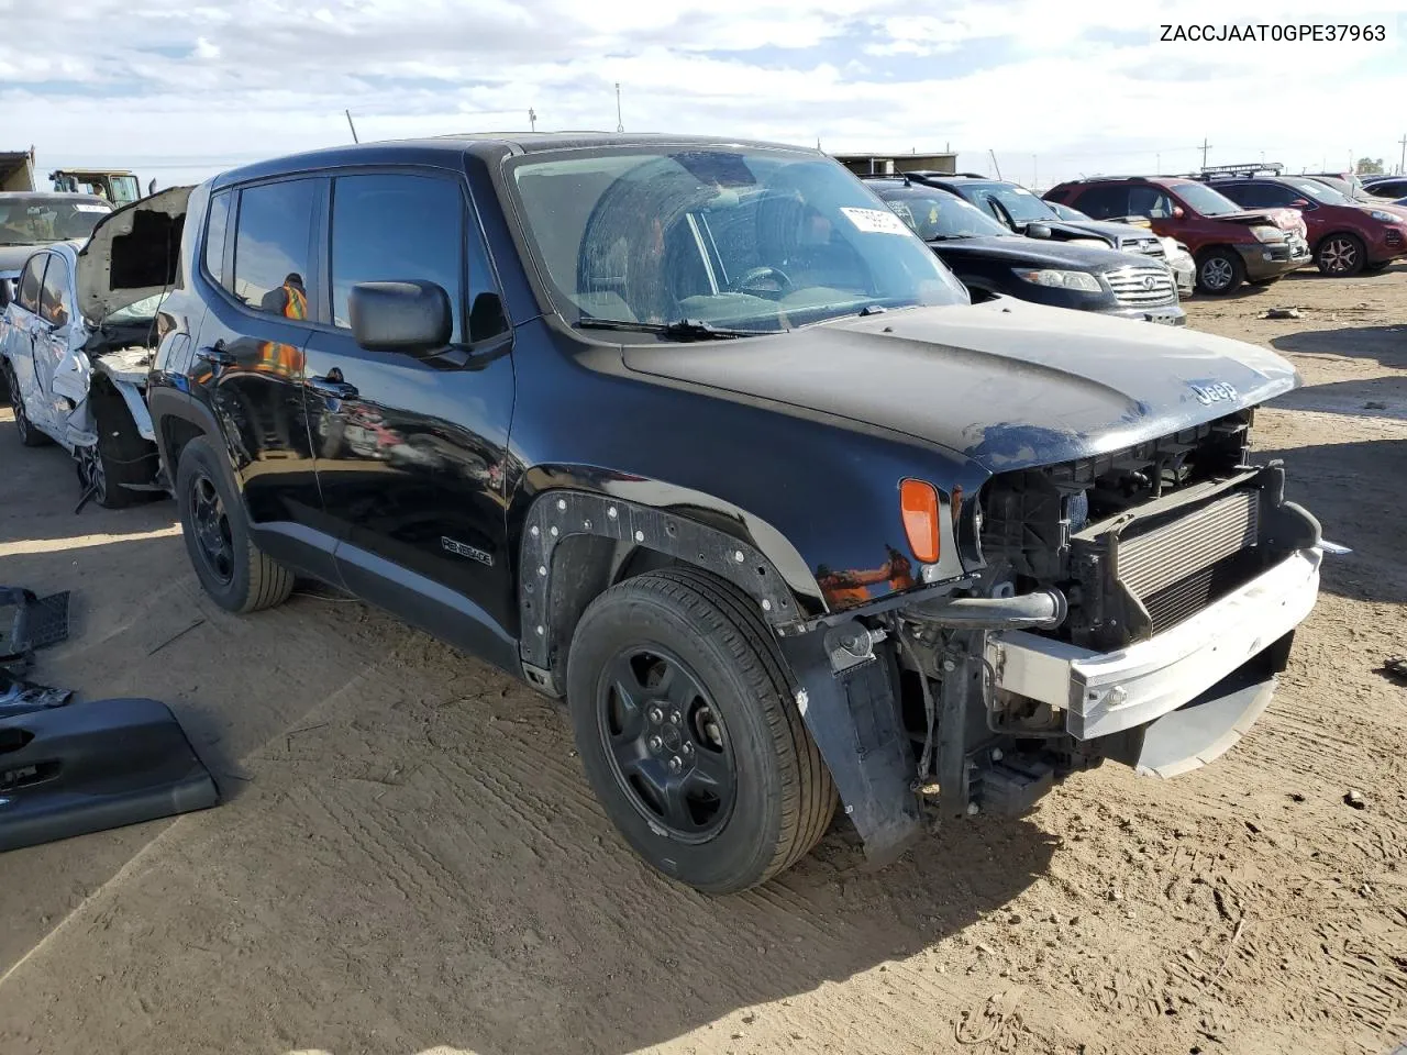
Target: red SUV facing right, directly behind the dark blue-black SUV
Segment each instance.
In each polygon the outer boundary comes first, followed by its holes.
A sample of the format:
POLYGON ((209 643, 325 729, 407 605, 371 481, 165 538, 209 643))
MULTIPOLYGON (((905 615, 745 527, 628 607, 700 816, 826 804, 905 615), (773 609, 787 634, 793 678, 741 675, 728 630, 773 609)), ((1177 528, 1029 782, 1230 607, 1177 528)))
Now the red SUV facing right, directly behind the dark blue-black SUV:
POLYGON ((1045 191, 1095 219, 1145 217, 1197 263, 1197 288, 1228 294, 1241 283, 1269 286, 1310 262, 1304 218, 1292 208, 1245 211, 1196 179, 1114 176, 1072 180, 1045 191))

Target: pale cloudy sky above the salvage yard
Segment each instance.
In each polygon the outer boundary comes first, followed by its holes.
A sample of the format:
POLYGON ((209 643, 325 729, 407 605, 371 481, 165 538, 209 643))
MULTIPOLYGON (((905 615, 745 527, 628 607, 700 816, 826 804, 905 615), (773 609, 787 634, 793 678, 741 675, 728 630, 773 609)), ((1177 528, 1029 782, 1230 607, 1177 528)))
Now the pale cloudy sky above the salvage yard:
POLYGON ((457 131, 616 128, 941 151, 1044 188, 1095 173, 1339 170, 1407 136, 1407 0, 0 0, 0 151, 194 183, 457 131), (1162 42, 1161 25, 1387 39, 1162 42), (995 152, 995 166, 992 153, 995 152))

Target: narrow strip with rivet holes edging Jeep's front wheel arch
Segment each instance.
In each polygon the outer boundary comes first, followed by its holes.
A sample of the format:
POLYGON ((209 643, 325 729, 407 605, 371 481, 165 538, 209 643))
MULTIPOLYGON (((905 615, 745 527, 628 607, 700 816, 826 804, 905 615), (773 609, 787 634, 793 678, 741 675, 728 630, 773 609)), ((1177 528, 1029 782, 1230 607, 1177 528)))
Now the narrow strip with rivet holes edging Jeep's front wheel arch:
MULTIPOLYGON (((552 670, 549 613, 553 587, 561 573, 553 556, 566 539, 574 536, 643 546, 712 571, 751 596, 763 620, 779 637, 801 633, 808 619, 792 585, 771 557, 753 543, 682 512, 592 491, 552 488, 533 498, 523 519, 519 546, 519 648, 523 663, 543 672, 552 670)), ((816 596, 819 594, 816 588, 816 596)))

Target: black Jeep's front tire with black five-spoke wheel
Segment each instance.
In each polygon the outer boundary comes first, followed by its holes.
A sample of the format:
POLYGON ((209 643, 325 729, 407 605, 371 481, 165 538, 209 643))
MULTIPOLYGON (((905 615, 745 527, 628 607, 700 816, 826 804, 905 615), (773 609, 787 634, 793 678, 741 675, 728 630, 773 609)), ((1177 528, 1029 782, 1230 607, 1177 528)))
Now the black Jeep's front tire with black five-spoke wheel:
POLYGON ((771 630, 750 598, 713 575, 666 568, 592 601, 571 639, 567 706, 587 778, 622 836, 653 868, 705 893, 746 890, 789 868, 834 813, 834 784, 771 630), (684 691, 651 685, 666 668, 667 686, 684 691), (633 708, 613 691, 625 681, 633 708), (629 747, 639 757, 623 765, 629 747), (682 776, 671 775, 681 758, 682 776), (722 779, 709 785, 711 772, 722 779), (684 821, 649 793, 650 774, 687 789, 675 799, 688 803, 684 821))

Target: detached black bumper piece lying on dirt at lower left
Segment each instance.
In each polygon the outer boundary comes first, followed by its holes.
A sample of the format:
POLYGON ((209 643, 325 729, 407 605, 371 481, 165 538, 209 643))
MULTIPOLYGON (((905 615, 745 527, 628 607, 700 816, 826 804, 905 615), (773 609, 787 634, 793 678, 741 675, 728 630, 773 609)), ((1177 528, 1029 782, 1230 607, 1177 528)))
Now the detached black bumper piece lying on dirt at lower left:
POLYGON ((214 806, 215 782, 155 699, 0 717, 0 851, 214 806))

